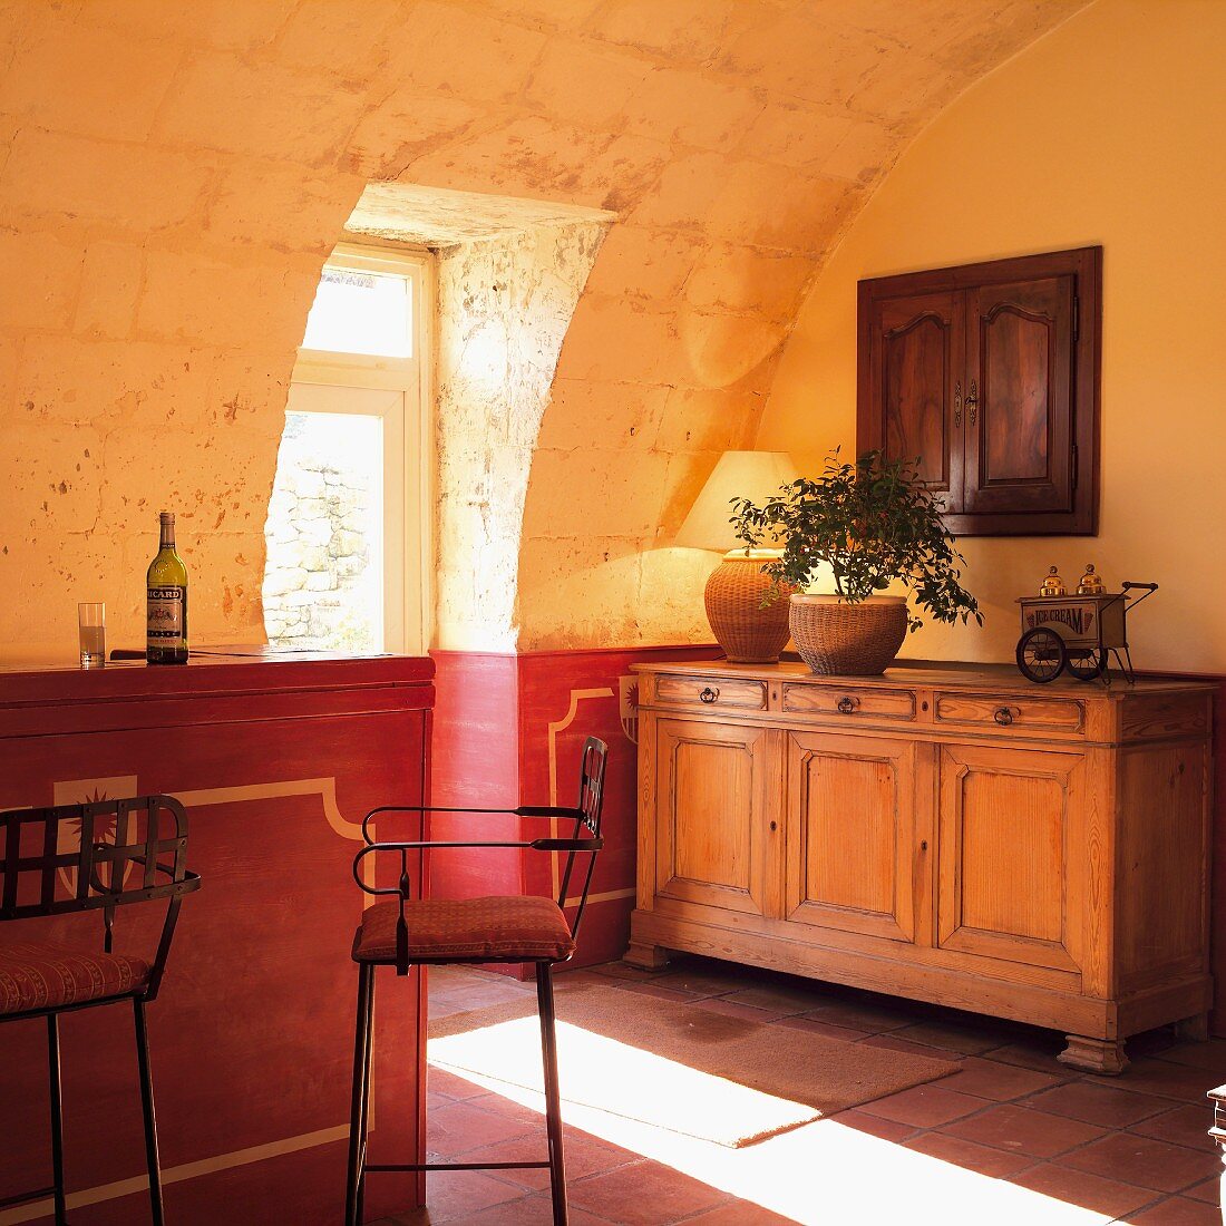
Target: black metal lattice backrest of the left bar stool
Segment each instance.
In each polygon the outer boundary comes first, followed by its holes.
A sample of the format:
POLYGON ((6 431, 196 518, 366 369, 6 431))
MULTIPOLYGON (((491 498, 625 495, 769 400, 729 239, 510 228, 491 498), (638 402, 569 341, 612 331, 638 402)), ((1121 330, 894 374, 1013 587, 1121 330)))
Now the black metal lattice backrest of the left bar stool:
POLYGON ((186 857, 188 814, 172 796, 10 809, 0 813, 0 922, 101 910, 109 954, 116 907, 167 899, 153 999, 183 896, 200 888, 186 857))

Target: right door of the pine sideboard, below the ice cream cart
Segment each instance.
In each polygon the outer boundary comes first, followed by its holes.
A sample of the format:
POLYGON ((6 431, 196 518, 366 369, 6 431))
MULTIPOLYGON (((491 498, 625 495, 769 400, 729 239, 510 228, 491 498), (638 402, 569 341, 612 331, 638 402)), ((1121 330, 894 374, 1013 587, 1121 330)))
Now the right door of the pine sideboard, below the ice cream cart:
POLYGON ((1070 808, 1083 758, 943 745, 938 769, 938 944, 1079 970, 1070 808))

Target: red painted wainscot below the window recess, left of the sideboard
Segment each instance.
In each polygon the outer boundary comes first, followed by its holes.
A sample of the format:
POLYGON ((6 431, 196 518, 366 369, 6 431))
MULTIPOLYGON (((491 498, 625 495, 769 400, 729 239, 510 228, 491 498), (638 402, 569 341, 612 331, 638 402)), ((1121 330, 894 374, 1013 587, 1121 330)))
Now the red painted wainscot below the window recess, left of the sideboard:
MULTIPOLYGON (((650 660, 710 660, 699 646, 531 651, 521 655, 436 651, 438 707, 434 732, 434 803, 441 805, 571 804, 579 786, 579 753, 588 734, 608 742, 604 785, 604 851, 579 953, 568 965, 591 966, 620 958, 634 910, 638 848, 638 678, 630 666, 650 660)), ((539 821, 516 818, 433 819, 432 837, 530 839, 539 821), (463 831, 463 832, 461 832, 463 831)), ((539 852, 435 852, 435 896, 531 893, 557 895, 558 858, 539 852)), ((522 973, 519 967, 490 967, 522 973)))

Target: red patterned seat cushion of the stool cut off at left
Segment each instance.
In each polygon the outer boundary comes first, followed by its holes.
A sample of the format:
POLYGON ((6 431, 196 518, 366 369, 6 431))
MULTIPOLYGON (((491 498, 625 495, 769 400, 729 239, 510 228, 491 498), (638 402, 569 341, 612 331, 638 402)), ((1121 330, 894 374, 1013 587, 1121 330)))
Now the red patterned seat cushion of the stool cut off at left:
POLYGON ((34 940, 0 942, 0 1014, 124 996, 148 981, 141 958, 34 940))

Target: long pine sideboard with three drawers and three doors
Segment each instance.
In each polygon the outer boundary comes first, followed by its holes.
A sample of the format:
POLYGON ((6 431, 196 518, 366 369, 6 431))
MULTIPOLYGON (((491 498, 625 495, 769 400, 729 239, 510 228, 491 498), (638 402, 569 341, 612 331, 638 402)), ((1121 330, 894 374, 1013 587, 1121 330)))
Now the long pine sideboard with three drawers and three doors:
POLYGON ((1204 1036, 1209 684, 640 664, 638 907, 669 950, 1013 1018, 1060 1059, 1204 1036))

